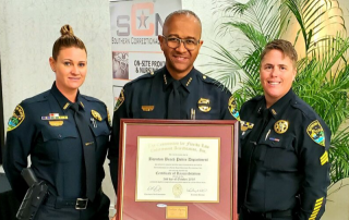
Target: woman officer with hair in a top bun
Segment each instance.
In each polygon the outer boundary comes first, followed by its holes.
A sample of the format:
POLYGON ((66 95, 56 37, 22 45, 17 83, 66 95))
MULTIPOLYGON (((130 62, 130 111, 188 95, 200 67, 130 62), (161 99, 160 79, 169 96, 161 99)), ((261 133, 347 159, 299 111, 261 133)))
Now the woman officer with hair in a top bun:
POLYGON ((4 170, 19 199, 27 184, 21 171, 32 169, 49 193, 35 219, 108 219, 109 198, 101 192, 103 164, 110 125, 106 105, 80 94, 87 72, 84 42, 70 25, 61 28, 50 66, 51 89, 22 101, 9 120, 4 170))

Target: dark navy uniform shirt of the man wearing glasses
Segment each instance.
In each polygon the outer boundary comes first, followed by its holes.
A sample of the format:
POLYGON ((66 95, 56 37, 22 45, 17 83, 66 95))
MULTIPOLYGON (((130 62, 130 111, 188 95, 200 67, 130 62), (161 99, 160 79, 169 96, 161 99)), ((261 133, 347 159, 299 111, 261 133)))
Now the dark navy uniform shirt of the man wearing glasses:
MULTIPOLYGON (((165 68, 140 76, 124 85, 117 101, 113 119, 111 146, 108 152, 110 172, 117 191, 120 119, 168 119, 171 77, 165 68)), ((240 119, 231 93, 217 81, 203 75, 194 68, 180 81, 180 119, 234 120, 240 119)))

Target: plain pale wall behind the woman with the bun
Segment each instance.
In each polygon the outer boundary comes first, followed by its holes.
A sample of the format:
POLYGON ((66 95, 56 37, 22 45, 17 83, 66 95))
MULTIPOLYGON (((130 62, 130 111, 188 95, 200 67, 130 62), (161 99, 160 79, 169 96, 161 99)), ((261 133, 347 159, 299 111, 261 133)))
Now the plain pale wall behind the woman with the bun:
MULTIPOLYGON (((1 0, 0 52, 4 127, 23 99, 49 89, 48 59, 60 28, 70 24, 87 49, 88 72, 81 93, 103 100, 112 112, 108 0, 1 0)), ((109 168, 104 188, 113 199, 109 168)))

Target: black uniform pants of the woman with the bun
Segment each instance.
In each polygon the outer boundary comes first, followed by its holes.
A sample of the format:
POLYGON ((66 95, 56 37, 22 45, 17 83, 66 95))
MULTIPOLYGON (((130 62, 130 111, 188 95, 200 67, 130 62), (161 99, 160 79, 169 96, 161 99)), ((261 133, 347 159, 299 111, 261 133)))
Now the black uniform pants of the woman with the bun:
POLYGON ((109 220, 110 199, 100 192, 93 203, 88 203, 86 209, 75 207, 57 208, 50 203, 40 206, 35 220, 109 220))

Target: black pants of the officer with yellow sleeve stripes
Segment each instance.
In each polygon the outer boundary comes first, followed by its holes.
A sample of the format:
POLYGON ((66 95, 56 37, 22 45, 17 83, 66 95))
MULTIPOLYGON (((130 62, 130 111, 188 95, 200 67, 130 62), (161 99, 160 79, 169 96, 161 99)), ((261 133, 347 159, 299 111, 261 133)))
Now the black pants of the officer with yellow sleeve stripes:
POLYGON ((239 220, 296 220, 290 211, 260 213, 242 208, 239 220))

